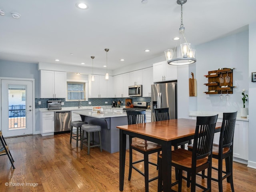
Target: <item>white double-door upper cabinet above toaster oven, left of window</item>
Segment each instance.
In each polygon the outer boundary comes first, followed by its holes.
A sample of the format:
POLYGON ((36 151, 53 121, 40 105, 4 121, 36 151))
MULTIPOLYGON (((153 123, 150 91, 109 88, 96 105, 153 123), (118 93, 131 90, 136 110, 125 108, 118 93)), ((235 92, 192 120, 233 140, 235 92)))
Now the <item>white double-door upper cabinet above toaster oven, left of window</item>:
POLYGON ((40 76, 41 98, 66 98, 66 72, 40 70, 40 76))

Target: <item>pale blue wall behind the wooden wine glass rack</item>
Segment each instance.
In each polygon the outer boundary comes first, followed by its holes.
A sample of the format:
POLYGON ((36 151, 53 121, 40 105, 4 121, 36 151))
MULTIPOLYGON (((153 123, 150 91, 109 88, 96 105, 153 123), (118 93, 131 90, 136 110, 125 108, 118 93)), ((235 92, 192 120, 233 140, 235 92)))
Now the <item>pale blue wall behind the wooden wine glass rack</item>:
MULTIPOLYGON (((196 46, 197 109, 200 111, 233 112, 242 107, 242 89, 248 93, 248 30, 196 46), (233 94, 230 102, 220 102, 219 94, 205 94, 208 71, 218 68, 233 70, 233 94)), ((194 98, 190 98, 192 102, 194 98)), ((248 102, 246 103, 248 106, 248 102)))

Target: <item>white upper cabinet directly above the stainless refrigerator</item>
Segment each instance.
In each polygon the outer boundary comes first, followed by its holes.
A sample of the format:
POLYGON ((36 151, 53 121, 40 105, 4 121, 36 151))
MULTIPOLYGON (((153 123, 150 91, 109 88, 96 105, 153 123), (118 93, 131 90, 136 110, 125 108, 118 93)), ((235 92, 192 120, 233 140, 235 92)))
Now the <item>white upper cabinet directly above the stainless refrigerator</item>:
POLYGON ((153 64, 153 81, 177 80, 177 66, 169 65, 166 61, 153 64))

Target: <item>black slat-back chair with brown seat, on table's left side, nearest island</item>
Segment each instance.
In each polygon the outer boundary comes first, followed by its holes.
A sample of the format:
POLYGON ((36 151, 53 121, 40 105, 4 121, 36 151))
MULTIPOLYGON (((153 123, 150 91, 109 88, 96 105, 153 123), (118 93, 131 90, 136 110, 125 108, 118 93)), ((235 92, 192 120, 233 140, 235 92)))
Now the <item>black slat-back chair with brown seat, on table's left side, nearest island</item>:
MULTIPOLYGON (((139 124, 139 123, 146 123, 146 110, 127 110, 127 118, 128 118, 128 124, 139 124)), ((148 179, 148 164, 152 164, 154 166, 158 166, 157 164, 153 162, 148 161, 148 155, 156 152, 160 152, 161 145, 156 144, 154 142, 142 140, 140 138, 132 138, 132 136, 129 137, 129 156, 130 156, 130 162, 129 162, 129 176, 128 180, 131 180, 132 176, 132 168, 136 171, 138 171, 140 174, 142 174, 145 178, 145 191, 148 192, 148 182, 151 182, 153 180, 156 180, 158 177, 154 177, 152 179, 148 179), (132 150, 136 150, 142 154, 144 154, 144 159, 138 160, 135 162, 132 162, 132 150), (144 173, 140 171, 138 168, 134 166, 134 164, 143 162, 144 161, 144 173)))

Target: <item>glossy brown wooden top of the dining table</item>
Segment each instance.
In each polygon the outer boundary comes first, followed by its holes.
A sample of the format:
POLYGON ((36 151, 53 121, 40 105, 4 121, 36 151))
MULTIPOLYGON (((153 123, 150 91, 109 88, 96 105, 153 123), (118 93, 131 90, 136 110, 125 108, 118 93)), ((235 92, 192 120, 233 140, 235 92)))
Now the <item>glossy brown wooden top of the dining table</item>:
MULTIPOLYGON (((221 127, 221 123, 216 123, 216 129, 221 127)), ((117 128, 150 136, 165 141, 176 140, 195 133, 196 120, 194 119, 172 119, 166 121, 132 124, 117 126, 117 128)))

